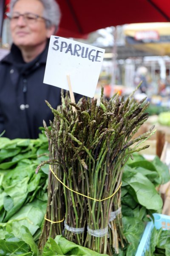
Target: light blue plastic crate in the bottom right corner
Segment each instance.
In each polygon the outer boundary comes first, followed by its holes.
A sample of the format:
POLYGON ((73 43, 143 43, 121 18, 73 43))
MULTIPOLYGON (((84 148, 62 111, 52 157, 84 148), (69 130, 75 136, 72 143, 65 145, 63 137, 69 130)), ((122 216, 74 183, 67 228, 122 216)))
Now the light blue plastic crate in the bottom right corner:
POLYGON ((170 230, 170 216, 159 213, 154 213, 153 216, 154 223, 153 221, 147 223, 136 256, 144 256, 146 250, 149 250, 150 236, 154 226, 157 230, 160 228, 162 228, 162 230, 170 230))

